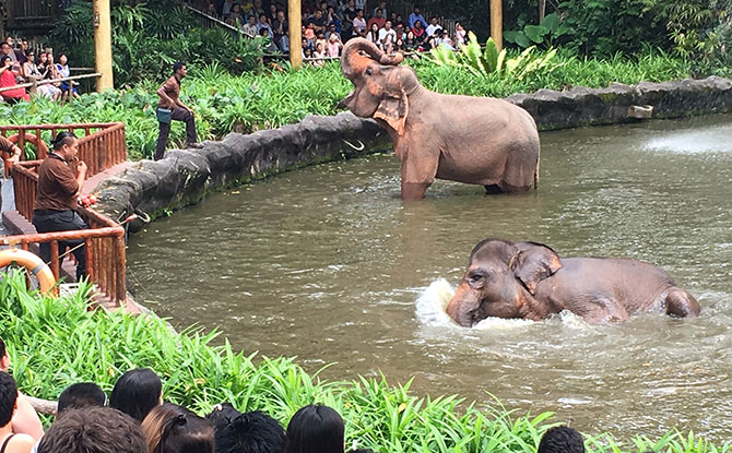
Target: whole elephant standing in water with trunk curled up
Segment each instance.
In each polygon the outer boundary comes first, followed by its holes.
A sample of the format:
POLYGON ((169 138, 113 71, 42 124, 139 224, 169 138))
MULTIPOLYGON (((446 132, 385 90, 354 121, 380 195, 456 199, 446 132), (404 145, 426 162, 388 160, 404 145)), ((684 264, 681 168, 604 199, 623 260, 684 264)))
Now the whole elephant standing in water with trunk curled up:
POLYGON ((355 90, 338 104, 387 130, 401 160, 402 200, 423 199, 435 178, 487 193, 539 186, 539 132, 528 111, 503 99, 430 92, 402 59, 350 39, 341 71, 355 90))

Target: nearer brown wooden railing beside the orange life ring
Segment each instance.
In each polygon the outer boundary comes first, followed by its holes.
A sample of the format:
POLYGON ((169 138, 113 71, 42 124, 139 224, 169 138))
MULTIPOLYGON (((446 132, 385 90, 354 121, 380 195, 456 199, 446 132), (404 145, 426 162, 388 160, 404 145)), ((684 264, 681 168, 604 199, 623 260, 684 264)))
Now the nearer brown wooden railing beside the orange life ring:
MULTIPOLYGON (((37 168, 42 163, 43 160, 29 160, 13 166, 15 205, 17 212, 28 222, 33 222, 33 205, 38 186, 37 168)), ((0 245, 20 245, 23 250, 28 250, 33 243, 48 242, 51 257, 48 265, 58 279, 63 260, 59 255, 59 242, 82 240, 85 246, 88 279, 113 302, 123 302, 127 299, 125 228, 88 207, 80 206, 76 213, 90 226, 88 229, 5 236, 0 238, 0 245)))

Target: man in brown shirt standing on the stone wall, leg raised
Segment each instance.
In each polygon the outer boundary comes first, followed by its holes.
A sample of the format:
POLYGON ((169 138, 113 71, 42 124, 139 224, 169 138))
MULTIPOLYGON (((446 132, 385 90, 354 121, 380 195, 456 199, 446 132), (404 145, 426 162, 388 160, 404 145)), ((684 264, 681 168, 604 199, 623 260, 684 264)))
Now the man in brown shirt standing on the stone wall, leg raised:
POLYGON ((178 61, 173 64, 173 76, 168 79, 163 86, 157 88, 157 95, 161 97, 161 100, 157 103, 156 110, 160 133, 155 146, 155 160, 162 159, 165 154, 165 146, 168 143, 172 120, 186 122, 186 147, 201 147, 201 145, 197 143, 198 136, 196 134, 193 110, 186 107, 179 99, 180 81, 186 75, 188 75, 186 63, 178 61))

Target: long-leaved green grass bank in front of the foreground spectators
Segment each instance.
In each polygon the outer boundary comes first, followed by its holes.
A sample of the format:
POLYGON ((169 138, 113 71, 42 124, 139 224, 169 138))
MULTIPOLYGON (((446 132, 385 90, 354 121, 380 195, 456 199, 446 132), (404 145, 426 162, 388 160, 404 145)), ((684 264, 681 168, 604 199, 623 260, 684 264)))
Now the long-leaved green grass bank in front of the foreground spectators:
MULTIPOLYGON (((217 332, 191 327, 176 335, 158 318, 90 313, 79 294, 39 297, 25 290, 20 275, 0 279, 0 336, 9 345, 20 388, 34 396, 54 400, 80 381, 110 391, 123 371, 150 367, 163 378, 167 401, 200 414, 227 401, 240 410, 264 410, 285 425, 303 405, 331 405, 346 421, 349 445, 356 440, 381 453, 533 453, 542 433, 557 422, 552 414, 517 415, 498 403, 465 407, 457 396, 416 396, 409 383, 389 385, 386 378, 321 381, 295 359, 234 351, 227 342, 214 342, 217 332)), ((605 434, 586 439, 590 453, 732 451, 732 444, 716 446, 678 432, 624 443, 605 434)))

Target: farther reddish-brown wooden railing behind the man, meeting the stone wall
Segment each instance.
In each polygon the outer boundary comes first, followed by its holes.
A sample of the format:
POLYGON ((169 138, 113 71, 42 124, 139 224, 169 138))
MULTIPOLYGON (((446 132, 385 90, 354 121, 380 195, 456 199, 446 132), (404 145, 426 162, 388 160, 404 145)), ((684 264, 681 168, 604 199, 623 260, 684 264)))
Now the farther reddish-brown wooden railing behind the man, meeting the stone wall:
MULTIPOLYGON (((21 160, 25 160, 27 135, 35 138, 36 143, 43 141, 43 131, 50 131, 56 136, 61 131, 83 133, 79 139, 79 158, 86 163, 86 177, 99 174, 117 164, 127 160, 127 143, 125 141, 125 123, 103 122, 83 124, 35 124, 35 126, 0 126, 0 135, 9 138, 17 134, 17 147, 21 148, 21 160)), ((48 146, 48 145, 46 145, 48 146)), ((37 159, 46 157, 43 146, 36 145, 37 159)), ((25 214, 23 214, 25 215, 25 214)))

